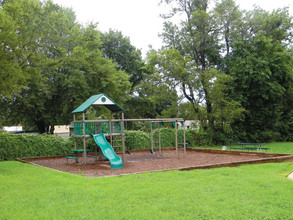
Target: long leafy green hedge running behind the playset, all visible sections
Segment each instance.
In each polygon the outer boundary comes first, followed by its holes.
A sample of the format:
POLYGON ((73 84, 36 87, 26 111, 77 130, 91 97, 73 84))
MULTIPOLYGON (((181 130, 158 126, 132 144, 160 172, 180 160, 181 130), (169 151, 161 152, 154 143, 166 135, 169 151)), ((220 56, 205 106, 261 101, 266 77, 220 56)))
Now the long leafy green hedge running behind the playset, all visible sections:
MULTIPOLYGON (((162 128, 161 146, 175 146, 175 131, 172 128, 162 128)), ((186 130, 186 142, 190 147, 195 146, 195 132, 186 130)), ((115 146, 121 146, 121 138, 116 137, 115 146), (120 139, 120 140, 119 140, 120 139)), ((158 129, 154 130, 153 140, 154 148, 158 148, 158 129)), ((53 135, 15 135, 6 132, 0 133, 0 160, 14 160, 24 157, 42 157, 71 154, 74 146, 74 138, 64 139, 53 135)), ((178 130, 178 146, 183 143, 183 131, 178 130)), ((78 139, 78 148, 83 148, 82 139, 78 139)), ((150 149, 150 133, 143 131, 125 132, 126 149, 150 149)), ((95 143, 93 139, 88 139, 87 147, 94 150, 95 143)))

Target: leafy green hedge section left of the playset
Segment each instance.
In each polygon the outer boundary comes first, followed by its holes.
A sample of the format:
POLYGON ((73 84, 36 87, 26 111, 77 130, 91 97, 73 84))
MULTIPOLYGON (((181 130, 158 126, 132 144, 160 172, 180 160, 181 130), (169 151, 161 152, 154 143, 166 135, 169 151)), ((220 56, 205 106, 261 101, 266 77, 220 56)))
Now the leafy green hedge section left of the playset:
POLYGON ((72 142, 53 135, 0 133, 0 160, 70 154, 72 142))

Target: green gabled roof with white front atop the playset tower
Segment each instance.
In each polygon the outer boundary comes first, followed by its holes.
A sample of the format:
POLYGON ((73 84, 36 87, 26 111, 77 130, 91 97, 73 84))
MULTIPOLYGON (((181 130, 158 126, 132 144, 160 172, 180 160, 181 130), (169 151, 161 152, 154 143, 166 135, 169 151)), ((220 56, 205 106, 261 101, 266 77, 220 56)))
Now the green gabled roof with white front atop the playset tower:
POLYGON ((88 107, 92 105, 101 105, 108 108, 111 112, 125 112, 125 110, 114 102, 111 98, 109 98, 106 94, 102 93, 99 95, 93 95, 84 103, 82 103, 78 108, 76 108, 72 113, 82 113, 85 112, 88 107))

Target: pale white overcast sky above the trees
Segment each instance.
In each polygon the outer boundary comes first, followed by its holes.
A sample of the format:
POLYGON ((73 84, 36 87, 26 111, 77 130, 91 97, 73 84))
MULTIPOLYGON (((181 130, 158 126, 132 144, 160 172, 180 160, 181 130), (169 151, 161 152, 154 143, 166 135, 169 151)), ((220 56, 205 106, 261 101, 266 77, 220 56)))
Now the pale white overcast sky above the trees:
MULTIPOLYGON (((145 57, 149 45, 154 49, 162 46, 158 36, 163 29, 161 13, 166 8, 159 6, 160 0, 53 0, 55 4, 72 8, 77 21, 82 24, 97 22, 98 29, 121 31, 130 38, 131 44, 142 50, 145 57)), ((236 0, 241 9, 251 10, 254 5, 271 11, 276 8, 290 7, 293 16, 292 0, 236 0)))

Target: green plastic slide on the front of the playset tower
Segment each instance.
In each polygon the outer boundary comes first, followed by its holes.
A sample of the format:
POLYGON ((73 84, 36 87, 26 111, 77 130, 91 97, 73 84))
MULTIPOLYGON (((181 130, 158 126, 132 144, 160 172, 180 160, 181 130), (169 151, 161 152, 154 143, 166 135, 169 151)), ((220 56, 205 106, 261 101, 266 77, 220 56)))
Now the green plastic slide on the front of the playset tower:
POLYGON ((92 134, 96 144, 101 148, 103 155, 110 161, 111 169, 122 169, 123 162, 120 157, 117 156, 113 147, 108 143, 105 135, 102 134, 92 134))

